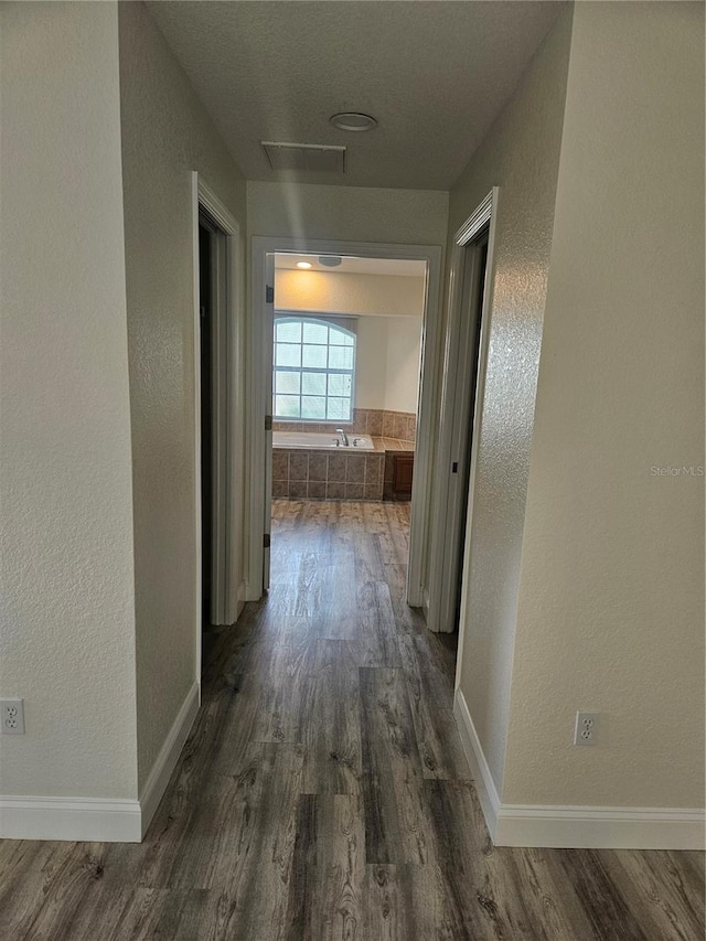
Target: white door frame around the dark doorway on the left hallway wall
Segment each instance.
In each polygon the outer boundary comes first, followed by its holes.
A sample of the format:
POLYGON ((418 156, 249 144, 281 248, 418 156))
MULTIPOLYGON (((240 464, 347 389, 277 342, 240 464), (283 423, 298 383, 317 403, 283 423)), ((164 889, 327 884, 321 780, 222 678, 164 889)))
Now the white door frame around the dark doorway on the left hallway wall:
MULTIPOLYGON (((194 538, 196 556, 196 590, 195 590, 195 645, 196 645, 196 682, 201 691, 201 632, 202 632, 202 559, 201 559, 201 302, 199 291, 199 207, 202 206, 226 236, 226 298, 221 304, 221 317, 225 319, 220 324, 218 333, 225 338, 225 370, 218 375, 217 396, 222 413, 225 415, 225 453, 221 456, 222 481, 225 488, 224 505, 226 507, 226 526, 224 534, 225 553, 223 558, 223 617, 225 623, 233 623, 242 601, 242 588, 237 584, 235 571, 239 565, 238 544, 240 532, 236 502, 240 486, 237 477, 237 456, 235 453, 235 417, 242 409, 238 395, 236 371, 242 361, 239 324, 242 322, 240 306, 240 227, 237 220, 228 212, 217 194, 205 182, 201 174, 193 170, 191 173, 192 196, 192 243, 193 243, 193 306, 194 306, 194 538)), ((200 693, 201 695, 201 693, 200 693)))

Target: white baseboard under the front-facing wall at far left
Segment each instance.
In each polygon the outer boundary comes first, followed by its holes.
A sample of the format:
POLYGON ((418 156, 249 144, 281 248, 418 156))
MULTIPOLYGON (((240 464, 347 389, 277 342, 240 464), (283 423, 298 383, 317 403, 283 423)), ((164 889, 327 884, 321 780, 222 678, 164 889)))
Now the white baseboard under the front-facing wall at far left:
POLYGON ((139 843, 140 816, 130 800, 0 796, 0 837, 139 843))

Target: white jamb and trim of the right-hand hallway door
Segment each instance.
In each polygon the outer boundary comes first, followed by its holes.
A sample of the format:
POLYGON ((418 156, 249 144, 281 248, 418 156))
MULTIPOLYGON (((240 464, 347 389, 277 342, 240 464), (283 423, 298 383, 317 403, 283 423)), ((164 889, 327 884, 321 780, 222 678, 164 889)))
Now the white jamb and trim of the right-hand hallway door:
MULTIPOLYGON (((461 336, 463 334, 463 317, 467 311, 462 308, 463 300, 463 280, 466 274, 466 263, 468 247, 473 239, 489 225, 488 233, 488 257, 485 261, 485 290, 483 293, 483 303, 480 311, 481 332, 478 343, 478 372, 475 382, 475 399, 473 405, 473 434, 471 441, 471 458, 469 471, 469 490, 468 490, 468 521, 466 545, 469 545, 468 536, 470 533, 471 518, 471 501, 473 495, 475 462, 477 462, 477 441, 480 431, 483 387, 485 382, 485 362, 488 357, 488 336, 490 333, 489 322, 492 309, 493 295, 493 278, 495 256, 495 232, 498 220, 498 199, 500 190, 493 186, 485 199, 477 206, 473 213, 460 226, 453 236, 453 245, 451 249, 451 263, 449 269, 449 299, 448 299, 448 317, 446 323, 445 352, 443 352, 443 368, 442 368, 442 388, 440 396, 440 423, 439 423, 439 439, 437 447, 436 464, 435 464, 435 486, 431 500, 434 512, 435 526, 431 533, 431 547, 429 556, 429 605, 427 610, 427 625, 432 631, 451 631, 453 625, 445 620, 442 622, 441 612, 443 610, 443 592, 448 590, 445 559, 448 558, 449 539, 452 538, 453 527, 447 525, 448 514, 457 512, 459 507, 449 509, 449 490, 450 490, 450 470, 453 456, 453 408, 457 400, 458 386, 461 383, 468 383, 469 377, 467 370, 459 368, 463 365, 463 350, 461 350, 461 336)), ((466 364, 468 365, 468 364, 466 364)), ((460 494, 459 494, 460 496, 460 494)), ((459 565, 463 567, 463 557, 467 555, 466 548, 462 550, 459 565)), ((458 660, 460 662, 462 638, 459 638, 458 660)))

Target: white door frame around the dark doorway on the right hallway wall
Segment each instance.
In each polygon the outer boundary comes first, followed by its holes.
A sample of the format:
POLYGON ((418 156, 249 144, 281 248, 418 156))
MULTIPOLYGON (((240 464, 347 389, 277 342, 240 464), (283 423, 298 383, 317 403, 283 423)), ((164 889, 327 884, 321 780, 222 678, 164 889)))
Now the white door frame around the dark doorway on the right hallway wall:
MULTIPOLYGON (((480 203, 475 211, 466 220, 453 236, 451 265, 449 275, 448 317, 446 324, 446 341, 443 352, 443 384, 441 388, 441 411, 439 440, 436 456, 437 473, 432 495, 432 512, 435 527, 431 535, 429 565, 429 606, 427 625, 432 631, 450 632, 454 629, 456 590, 459 568, 463 558, 459 558, 458 539, 460 538, 460 514, 466 494, 456 486, 458 478, 452 477, 451 467, 459 462, 460 448, 468 447, 468 416, 459 416, 459 403, 468 395, 468 384, 471 381, 474 363, 472 362, 472 344, 470 333, 475 329, 469 322, 469 310, 463 303, 463 285, 469 260, 469 246, 490 224, 488 235, 488 256, 485 261, 485 289, 483 292, 481 332, 478 341, 478 372, 475 382, 475 399, 472 421, 471 458, 468 490, 468 520, 473 493, 477 441, 480 430, 481 405, 485 382, 485 361, 488 356, 489 320, 492 309, 492 272, 495 254, 495 228, 498 217, 499 188, 491 192, 480 203), (466 391, 466 396, 464 396, 466 391), (463 425, 464 427, 460 427, 463 425)), ((472 259, 471 259, 472 263, 472 259)), ((462 409, 461 409, 462 410, 462 409)), ((467 545, 468 533, 467 527, 467 545)), ((466 552, 462 552, 462 556, 466 552)), ((460 643, 460 641, 459 641, 460 643)), ((459 651, 460 654, 460 651, 459 651)))

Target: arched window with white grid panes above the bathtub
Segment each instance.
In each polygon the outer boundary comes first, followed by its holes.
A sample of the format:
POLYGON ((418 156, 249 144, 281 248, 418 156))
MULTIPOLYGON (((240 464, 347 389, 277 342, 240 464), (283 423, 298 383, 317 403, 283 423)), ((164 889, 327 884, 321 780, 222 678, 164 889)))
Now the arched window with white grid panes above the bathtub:
POLYGON ((352 421, 355 333, 320 317, 275 318, 274 417, 352 421))

